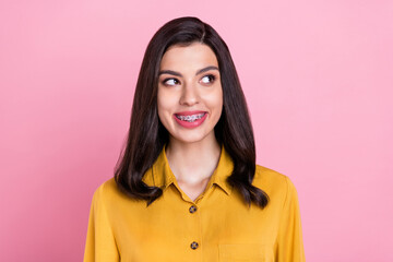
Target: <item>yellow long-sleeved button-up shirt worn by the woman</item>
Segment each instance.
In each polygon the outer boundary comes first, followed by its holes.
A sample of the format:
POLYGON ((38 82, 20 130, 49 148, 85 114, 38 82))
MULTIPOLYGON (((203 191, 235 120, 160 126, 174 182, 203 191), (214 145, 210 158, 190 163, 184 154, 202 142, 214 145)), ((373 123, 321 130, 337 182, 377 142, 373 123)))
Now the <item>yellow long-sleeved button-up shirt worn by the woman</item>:
POLYGON ((253 184, 270 202, 248 207, 225 181, 233 160, 224 147, 206 189, 195 200, 182 192, 165 151, 143 177, 163 195, 145 201, 121 193, 114 179, 94 193, 84 261, 305 261, 297 193, 290 180, 257 166, 253 184))

